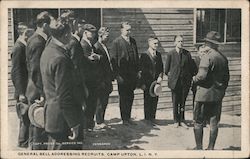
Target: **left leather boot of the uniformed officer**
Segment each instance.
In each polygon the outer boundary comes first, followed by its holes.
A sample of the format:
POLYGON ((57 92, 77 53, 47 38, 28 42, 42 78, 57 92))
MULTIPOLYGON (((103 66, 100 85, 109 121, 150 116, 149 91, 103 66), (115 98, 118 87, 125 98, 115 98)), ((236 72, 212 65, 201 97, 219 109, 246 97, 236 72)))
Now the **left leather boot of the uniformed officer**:
POLYGON ((194 150, 202 150, 202 140, 203 140, 202 124, 195 124, 194 137, 195 137, 195 142, 196 142, 196 147, 194 148, 194 150))

